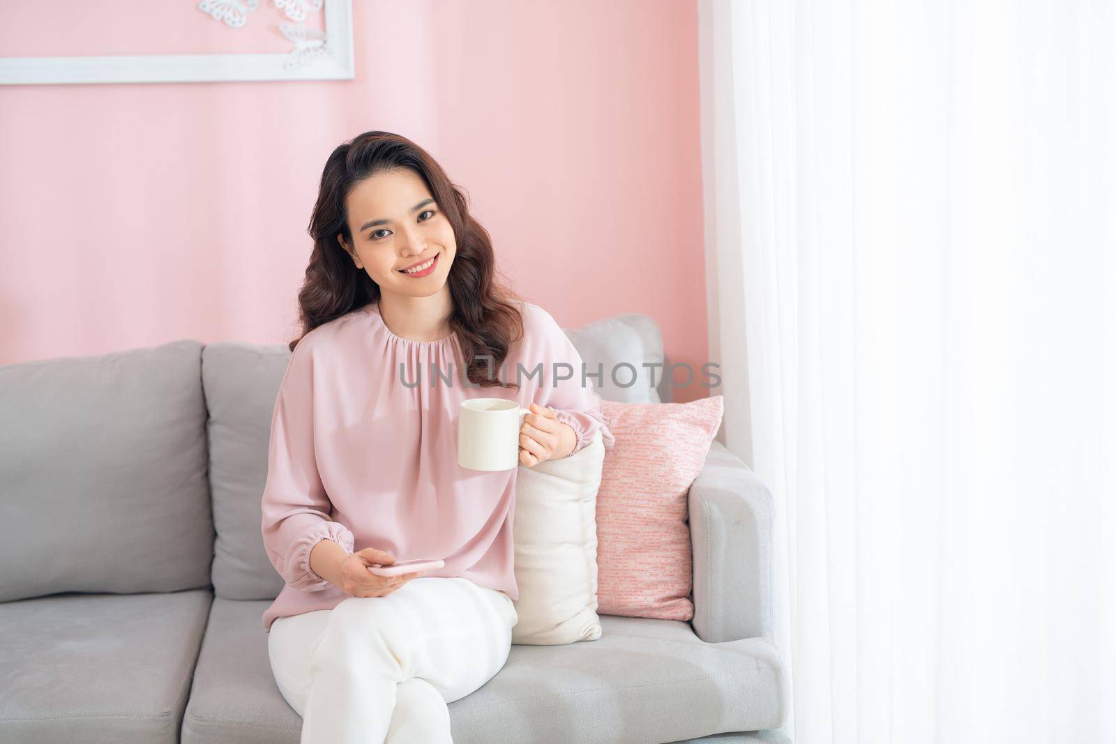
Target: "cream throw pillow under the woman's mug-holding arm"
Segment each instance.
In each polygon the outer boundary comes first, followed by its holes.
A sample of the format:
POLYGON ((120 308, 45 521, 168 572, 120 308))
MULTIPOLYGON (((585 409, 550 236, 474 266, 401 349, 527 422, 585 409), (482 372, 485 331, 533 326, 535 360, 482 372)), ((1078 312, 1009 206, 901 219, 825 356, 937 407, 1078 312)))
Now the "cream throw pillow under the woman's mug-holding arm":
POLYGON ((600 429, 568 457, 516 475, 519 622, 511 642, 560 646, 600 638, 597 617, 597 489, 605 462, 600 429))

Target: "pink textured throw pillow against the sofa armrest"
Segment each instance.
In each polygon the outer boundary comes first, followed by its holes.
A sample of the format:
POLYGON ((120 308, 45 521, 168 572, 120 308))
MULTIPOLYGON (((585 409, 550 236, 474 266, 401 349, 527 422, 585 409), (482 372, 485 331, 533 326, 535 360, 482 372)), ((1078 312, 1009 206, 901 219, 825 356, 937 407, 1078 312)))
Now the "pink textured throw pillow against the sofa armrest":
POLYGON ((691 403, 603 400, 616 443, 597 492, 597 612, 689 620, 694 606, 690 485, 724 414, 724 396, 691 403))

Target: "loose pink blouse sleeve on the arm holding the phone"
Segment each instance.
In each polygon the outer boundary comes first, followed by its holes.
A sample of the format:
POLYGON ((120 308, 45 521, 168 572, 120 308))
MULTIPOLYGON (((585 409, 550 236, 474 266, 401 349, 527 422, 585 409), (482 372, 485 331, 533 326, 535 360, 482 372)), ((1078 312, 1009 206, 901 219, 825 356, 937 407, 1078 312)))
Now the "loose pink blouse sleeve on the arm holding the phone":
POLYGON ((333 586, 310 569, 310 550, 323 539, 353 552, 354 537, 329 519, 330 501, 314 445, 314 356, 306 339, 295 347, 271 415, 261 532, 271 564, 302 591, 333 586))

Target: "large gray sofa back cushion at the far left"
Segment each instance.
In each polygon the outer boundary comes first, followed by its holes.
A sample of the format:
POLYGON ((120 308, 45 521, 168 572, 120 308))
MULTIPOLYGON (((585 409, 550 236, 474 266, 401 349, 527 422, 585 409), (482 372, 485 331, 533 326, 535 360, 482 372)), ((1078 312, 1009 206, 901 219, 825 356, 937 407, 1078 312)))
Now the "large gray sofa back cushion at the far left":
POLYGON ((201 352, 0 367, 0 601, 210 583, 201 352))

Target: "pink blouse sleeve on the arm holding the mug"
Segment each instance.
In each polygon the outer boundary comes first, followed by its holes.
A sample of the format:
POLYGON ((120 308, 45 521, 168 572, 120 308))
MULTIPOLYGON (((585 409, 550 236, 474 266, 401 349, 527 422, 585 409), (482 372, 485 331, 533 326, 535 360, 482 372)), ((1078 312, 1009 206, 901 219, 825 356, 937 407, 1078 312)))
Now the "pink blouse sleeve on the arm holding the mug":
POLYGON ((535 403, 552 408, 555 417, 574 429, 577 444, 569 454, 573 455, 588 444, 597 429, 600 429, 605 448, 610 448, 616 443, 616 437, 608 417, 602 413, 602 398, 596 390, 595 378, 586 376, 585 384, 581 384, 583 369, 593 375, 597 371, 607 375, 609 370, 583 367, 581 355, 574 342, 554 317, 541 308, 535 331, 540 338, 538 348, 543 363, 542 385, 535 403), (561 377, 568 379, 560 379, 561 377))

